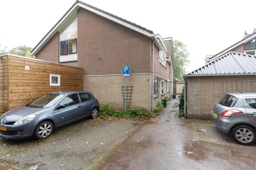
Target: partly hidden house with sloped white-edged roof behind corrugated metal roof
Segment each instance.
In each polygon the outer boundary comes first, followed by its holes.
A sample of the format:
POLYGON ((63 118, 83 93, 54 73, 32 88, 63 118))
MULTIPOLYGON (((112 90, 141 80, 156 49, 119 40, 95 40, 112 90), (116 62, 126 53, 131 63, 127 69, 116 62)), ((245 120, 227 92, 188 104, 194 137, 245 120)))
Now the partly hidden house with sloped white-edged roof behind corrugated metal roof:
POLYGON ((219 58, 231 51, 249 55, 256 55, 256 29, 254 29, 252 34, 247 34, 245 32, 242 40, 236 42, 232 46, 229 46, 225 50, 220 51, 218 54, 215 54, 213 56, 207 55, 205 57, 205 62, 211 62, 216 58, 219 58))

